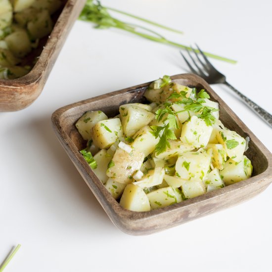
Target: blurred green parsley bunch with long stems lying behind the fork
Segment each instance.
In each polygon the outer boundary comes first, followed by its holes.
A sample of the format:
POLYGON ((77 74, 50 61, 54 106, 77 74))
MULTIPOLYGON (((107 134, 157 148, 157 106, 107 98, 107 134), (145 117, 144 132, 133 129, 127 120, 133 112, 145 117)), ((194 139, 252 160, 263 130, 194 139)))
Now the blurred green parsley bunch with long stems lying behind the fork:
MULTIPOLYGON (((142 38, 145 38, 147 40, 151 40, 151 41, 161 43, 161 44, 176 46, 176 47, 179 47, 181 49, 187 49, 189 51, 194 50, 196 53, 199 53, 198 49, 192 49, 190 46, 172 42, 172 41, 164 38, 159 33, 155 32, 155 31, 152 31, 152 30, 150 30, 148 28, 138 26, 138 25, 134 25, 134 24, 130 24, 130 23, 126 23, 126 22, 123 22, 121 20, 118 20, 118 19, 112 17, 109 14, 108 10, 112 10, 112 11, 115 11, 115 12, 122 13, 124 15, 129 16, 129 17, 133 17, 133 18, 135 18, 137 20, 144 21, 144 22, 149 23, 151 25, 154 25, 154 26, 157 26, 157 27, 160 27, 160 28, 164 28, 164 29, 167 29, 167 30, 172 31, 172 32, 174 31, 174 32, 182 33, 181 31, 177 31, 175 29, 163 26, 161 24, 152 22, 150 20, 138 17, 136 15, 133 15, 133 14, 130 14, 130 13, 127 13, 127 12, 124 12, 124 11, 120 11, 120 10, 117 10, 115 8, 102 6, 100 1, 98 1, 98 0, 97 1, 87 0, 85 6, 84 6, 84 8, 83 8, 83 10, 82 10, 82 12, 81 12, 81 14, 79 16, 79 19, 82 20, 82 21, 88 21, 88 22, 95 23, 96 28, 106 29, 106 28, 110 28, 110 27, 115 27, 115 28, 122 29, 122 30, 125 30, 125 31, 130 32, 130 33, 133 33, 133 34, 135 34, 137 36, 140 36, 142 38), (138 31, 137 29, 144 30, 144 31, 146 31, 146 33, 138 31)), ((233 64, 237 62, 236 60, 229 59, 229 58, 219 56, 219 55, 216 55, 216 54, 213 54, 213 53, 205 52, 205 51, 204 51, 204 54, 206 56, 208 56, 208 57, 218 59, 218 60, 222 60, 222 61, 229 62, 229 63, 233 63, 233 64)))

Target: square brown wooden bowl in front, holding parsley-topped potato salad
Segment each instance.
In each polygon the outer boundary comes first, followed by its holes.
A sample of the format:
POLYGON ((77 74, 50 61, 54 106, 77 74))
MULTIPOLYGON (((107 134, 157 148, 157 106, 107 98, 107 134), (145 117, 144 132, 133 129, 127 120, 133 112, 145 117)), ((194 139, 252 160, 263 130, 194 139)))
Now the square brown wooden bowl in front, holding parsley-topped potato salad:
POLYGON ((78 133, 75 123, 88 110, 102 110, 113 117, 118 114, 119 105, 143 102, 143 93, 150 83, 83 100, 62 107, 52 115, 54 131, 76 168, 113 224, 129 234, 150 234, 225 209, 262 192, 272 182, 272 154, 211 87, 200 77, 191 74, 171 78, 182 85, 208 91, 211 99, 219 102, 223 124, 243 137, 250 137, 249 149, 246 151, 253 165, 250 179, 157 210, 128 211, 110 195, 79 152, 86 147, 86 141, 78 133))

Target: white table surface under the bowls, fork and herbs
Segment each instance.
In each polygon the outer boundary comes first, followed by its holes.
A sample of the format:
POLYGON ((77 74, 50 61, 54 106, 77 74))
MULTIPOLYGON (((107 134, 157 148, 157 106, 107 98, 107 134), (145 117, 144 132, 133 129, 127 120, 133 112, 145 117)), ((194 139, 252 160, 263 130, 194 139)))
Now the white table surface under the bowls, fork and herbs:
MULTIPOLYGON (((237 59, 212 62, 272 113, 272 1, 102 3, 183 30, 156 29, 176 42, 237 59)), ((24 110, 0 113, 0 262, 22 245, 6 272, 271 271, 272 186, 227 210, 130 236, 114 227, 54 135, 57 108, 185 72, 175 47, 75 23, 40 97, 24 110)), ((272 151, 271 128, 226 87, 212 87, 272 151)))

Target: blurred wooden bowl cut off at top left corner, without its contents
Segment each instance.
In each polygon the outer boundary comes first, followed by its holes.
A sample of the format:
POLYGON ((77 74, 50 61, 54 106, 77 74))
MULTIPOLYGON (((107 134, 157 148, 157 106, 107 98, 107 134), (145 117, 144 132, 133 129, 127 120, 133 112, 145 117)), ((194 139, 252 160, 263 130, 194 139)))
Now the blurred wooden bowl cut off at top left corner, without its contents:
POLYGON ((13 80, 0 80, 0 111, 16 111, 29 106, 42 92, 64 41, 78 18, 85 0, 65 0, 63 9, 53 16, 54 28, 30 55, 38 57, 32 70, 13 80))

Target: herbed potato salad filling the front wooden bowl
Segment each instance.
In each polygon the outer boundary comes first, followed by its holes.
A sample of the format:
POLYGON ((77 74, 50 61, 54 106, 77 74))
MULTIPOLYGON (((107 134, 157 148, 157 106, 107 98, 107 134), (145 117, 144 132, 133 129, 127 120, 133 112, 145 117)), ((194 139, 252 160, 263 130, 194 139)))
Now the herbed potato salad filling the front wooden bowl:
POLYGON ((251 177, 248 140, 222 124, 205 90, 164 76, 144 96, 113 118, 88 111, 76 123, 80 152, 123 208, 150 211, 251 177))

